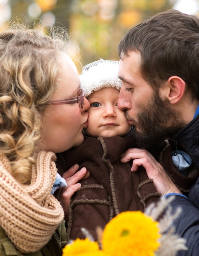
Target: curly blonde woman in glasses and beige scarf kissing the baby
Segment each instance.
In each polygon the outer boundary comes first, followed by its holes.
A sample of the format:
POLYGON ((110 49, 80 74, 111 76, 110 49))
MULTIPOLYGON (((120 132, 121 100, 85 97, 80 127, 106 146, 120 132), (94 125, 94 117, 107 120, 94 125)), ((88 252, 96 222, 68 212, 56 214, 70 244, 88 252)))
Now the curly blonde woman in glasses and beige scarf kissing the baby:
MULTIPOLYGON (((67 54, 67 33, 61 38, 22 26, 0 32, 1 256, 61 255, 64 213, 50 194, 55 153, 83 142, 89 107, 67 54)), ((65 175, 65 213, 86 174, 82 168, 74 175, 77 168, 65 175)))

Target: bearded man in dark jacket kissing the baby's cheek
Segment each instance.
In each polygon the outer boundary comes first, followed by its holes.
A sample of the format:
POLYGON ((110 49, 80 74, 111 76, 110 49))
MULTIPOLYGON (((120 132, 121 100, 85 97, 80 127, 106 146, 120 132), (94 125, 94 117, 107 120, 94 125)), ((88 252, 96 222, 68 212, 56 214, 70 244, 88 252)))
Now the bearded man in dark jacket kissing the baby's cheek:
POLYGON ((134 159, 132 171, 144 166, 162 195, 175 194, 171 205, 182 208, 175 227, 188 247, 178 255, 198 256, 199 17, 176 10, 159 13, 130 29, 118 53, 118 107, 135 126, 139 147, 150 151, 165 139, 169 143, 162 165, 147 150, 135 148, 121 161, 134 159))

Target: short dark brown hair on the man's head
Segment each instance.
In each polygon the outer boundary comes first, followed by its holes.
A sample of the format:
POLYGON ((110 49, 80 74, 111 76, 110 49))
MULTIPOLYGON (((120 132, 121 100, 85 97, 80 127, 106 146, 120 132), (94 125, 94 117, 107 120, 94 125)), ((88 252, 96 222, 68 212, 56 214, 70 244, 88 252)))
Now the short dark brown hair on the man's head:
POLYGON ((170 76, 179 76, 199 99, 199 17, 168 10, 129 29, 118 54, 140 52, 142 77, 158 90, 170 76))

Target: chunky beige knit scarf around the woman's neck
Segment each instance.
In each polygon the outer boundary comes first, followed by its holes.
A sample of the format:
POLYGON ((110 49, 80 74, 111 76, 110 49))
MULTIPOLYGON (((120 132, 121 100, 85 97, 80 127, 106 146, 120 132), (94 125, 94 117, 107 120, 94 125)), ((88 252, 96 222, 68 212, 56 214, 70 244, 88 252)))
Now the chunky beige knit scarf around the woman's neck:
POLYGON ((0 225, 20 252, 41 249, 63 220, 63 209, 50 194, 55 160, 54 153, 39 152, 31 184, 22 185, 11 176, 7 157, 0 155, 0 225))

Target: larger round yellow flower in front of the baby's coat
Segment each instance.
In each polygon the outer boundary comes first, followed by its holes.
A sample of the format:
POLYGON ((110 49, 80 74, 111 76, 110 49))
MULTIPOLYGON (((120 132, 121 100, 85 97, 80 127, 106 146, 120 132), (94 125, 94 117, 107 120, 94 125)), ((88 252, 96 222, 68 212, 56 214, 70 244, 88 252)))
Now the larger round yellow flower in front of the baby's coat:
POLYGON ((160 246, 158 222, 141 211, 125 211, 105 227, 103 251, 112 256, 154 256, 160 246))

